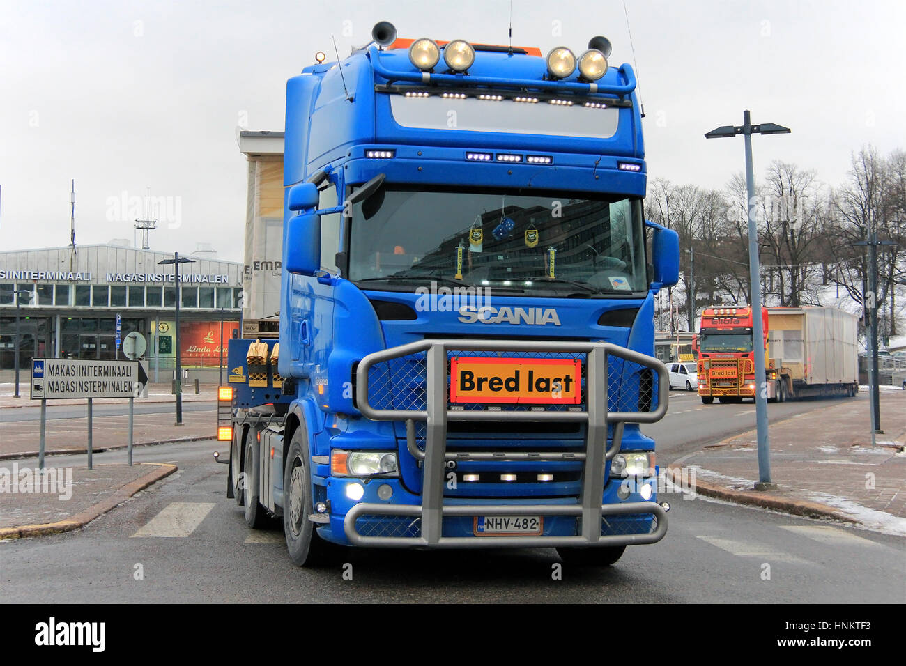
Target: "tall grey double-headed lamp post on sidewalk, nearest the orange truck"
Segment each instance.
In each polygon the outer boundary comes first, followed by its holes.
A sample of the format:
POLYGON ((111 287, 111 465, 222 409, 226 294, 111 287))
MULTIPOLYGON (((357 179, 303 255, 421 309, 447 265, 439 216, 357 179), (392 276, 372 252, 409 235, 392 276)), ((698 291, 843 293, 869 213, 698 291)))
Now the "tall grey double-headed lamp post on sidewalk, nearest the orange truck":
POLYGON ((770 441, 767 431, 767 381, 765 372, 765 332, 761 318, 761 279, 758 266, 758 229, 755 223, 755 176, 752 172, 752 135, 788 134, 789 128, 766 122, 753 125, 749 111, 743 111, 742 125, 725 125, 711 130, 706 139, 726 139, 742 134, 746 143, 746 192, 748 211, 748 279, 752 293, 752 337, 755 349, 755 411, 758 431, 758 483, 757 490, 773 487, 771 483, 770 441))

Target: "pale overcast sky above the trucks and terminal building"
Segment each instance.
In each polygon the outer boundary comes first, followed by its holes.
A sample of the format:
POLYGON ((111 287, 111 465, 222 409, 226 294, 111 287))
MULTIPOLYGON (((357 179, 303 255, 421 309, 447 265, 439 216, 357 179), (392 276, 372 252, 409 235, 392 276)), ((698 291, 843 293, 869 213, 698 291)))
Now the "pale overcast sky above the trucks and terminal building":
MULTIPOLYGON (((0 249, 67 245, 75 179, 79 245, 131 240, 149 188, 179 222, 151 232, 153 249, 210 243, 241 261, 236 128, 283 130, 286 79, 333 53, 331 35, 341 57, 380 20, 401 37, 506 43, 509 5, 0 0, 0 249)), ((603 34, 612 64, 635 65, 650 179, 722 188, 742 139, 702 135, 747 108, 793 129, 755 139, 756 173, 783 159, 836 185, 864 144, 906 149, 902 0, 626 0, 634 56, 622 0, 512 5, 517 45, 581 52, 603 34)))

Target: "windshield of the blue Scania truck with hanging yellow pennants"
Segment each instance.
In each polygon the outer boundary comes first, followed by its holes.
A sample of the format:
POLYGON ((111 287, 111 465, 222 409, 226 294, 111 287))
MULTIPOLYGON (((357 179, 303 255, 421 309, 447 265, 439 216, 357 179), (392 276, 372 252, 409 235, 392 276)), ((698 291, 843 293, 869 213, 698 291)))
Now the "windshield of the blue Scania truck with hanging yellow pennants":
POLYGON ((641 200, 382 188, 352 207, 349 278, 526 295, 647 289, 641 200))

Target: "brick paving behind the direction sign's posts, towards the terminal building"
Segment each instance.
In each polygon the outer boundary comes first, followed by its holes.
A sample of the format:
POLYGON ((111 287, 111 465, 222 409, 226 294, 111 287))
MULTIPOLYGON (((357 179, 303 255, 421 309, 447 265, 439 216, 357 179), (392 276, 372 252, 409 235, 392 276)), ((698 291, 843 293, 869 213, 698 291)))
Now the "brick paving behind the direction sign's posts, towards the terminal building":
MULTIPOLYGON (((27 385, 26 387, 27 388, 27 385)), ((189 388, 189 387, 186 387, 189 388)), ((136 398, 135 406, 149 403, 170 403, 173 410, 156 414, 135 413, 133 417, 133 443, 136 446, 165 444, 174 441, 193 441, 217 436, 217 386, 202 385, 199 393, 184 392, 184 405, 209 402, 210 410, 183 410, 182 425, 176 426, 176 396, 170 393, 170 384, 149 384, 148 397, 136 398)), ((40 400, 31 400, 27 393, 13 397, 12 384, 0 384, 0 460, 31 458, 38 455, 41 440, 40 420, 13 420, 9 415, 15 408, 39 408, 40 400), (6 391, 8 389, 8 391, 6 391)), ((20 394, 22 393, 20 387, 20 394)), ((128 398, 98 399, 92 414, 92 450, 95 453, 125 448, 128 443, 129 416, 106 416, 102 406, 128 404, 128 398)), ((47 401, 48 418, 44 432, 45 452, 48 455, 84 452, 88 447, 88 414, 85 400, 47 401), (53 409, 81 406, 82 416, 72 417, 72 410, 65 418, 54 418, 53 409)), ((36 410, 34 410, 36 411, 36 410)))

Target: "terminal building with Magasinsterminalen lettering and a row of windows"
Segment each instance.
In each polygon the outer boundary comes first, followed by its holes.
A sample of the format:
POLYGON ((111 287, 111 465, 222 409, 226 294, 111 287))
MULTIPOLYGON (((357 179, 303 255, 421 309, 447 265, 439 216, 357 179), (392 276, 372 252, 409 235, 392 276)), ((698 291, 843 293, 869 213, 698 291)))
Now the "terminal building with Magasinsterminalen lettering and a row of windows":
MULTIPOLYGON (((240 321, 244 266, 209 254, 190 254, 193 263, 179 266, 179 344, 188 367, 217 367, 220 323, 226 342, 240 321)), ((0 370, 14 367, 16 314, 26 373, 33 358, 123 358, 118 316, 122 337, 143 334, 149 359, 173 368, 175 274, 173 265, 159 265, 172 258, 113 244, 0 252, 0 370)))

